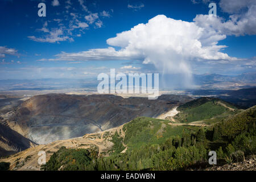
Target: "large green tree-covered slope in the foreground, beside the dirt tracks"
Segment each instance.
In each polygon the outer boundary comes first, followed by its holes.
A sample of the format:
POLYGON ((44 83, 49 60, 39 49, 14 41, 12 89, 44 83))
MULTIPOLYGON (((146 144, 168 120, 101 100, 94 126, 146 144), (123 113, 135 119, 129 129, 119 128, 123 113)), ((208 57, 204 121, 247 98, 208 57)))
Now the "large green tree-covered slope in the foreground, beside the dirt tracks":
POLYGON ((180 170, 207 164, 217 152, 218 164, 256 154, 256 106, 209 127, 170 126, 168 121, 137 118, 123 127, 125 138, 113 137, 110 156, 97 150, 61 148, 44 170, 180 170), (123 141, 122 141, 123 140, 123 141), (125 153, 120 151, 127 147, 125 153))

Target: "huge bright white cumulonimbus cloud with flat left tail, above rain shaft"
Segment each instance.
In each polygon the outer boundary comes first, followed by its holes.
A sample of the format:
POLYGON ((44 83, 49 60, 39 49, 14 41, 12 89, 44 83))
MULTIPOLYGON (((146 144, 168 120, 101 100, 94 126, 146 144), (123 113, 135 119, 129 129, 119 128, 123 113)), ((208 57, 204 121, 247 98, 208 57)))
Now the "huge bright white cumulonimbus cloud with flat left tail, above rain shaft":
POLYGON ((185 22, 158 15, 146 24, 138 24, 107 40, 113 47, 90 49, 77 53, 61 52, 56 59, 67 61, 86 60, 142 60, 156 68, 172 73, 189 73, 190 60, 232 60, 220 52, 225 46, 217 46, 225 35, 206 31, 194 22, 185 22))

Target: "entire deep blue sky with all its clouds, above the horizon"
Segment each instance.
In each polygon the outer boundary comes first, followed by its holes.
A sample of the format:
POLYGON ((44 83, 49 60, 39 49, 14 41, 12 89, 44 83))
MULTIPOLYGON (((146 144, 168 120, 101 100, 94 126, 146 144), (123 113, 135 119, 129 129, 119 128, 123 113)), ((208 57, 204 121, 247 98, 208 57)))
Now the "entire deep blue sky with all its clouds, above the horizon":
POLYGON ((231 2, 1 0, 0 79, 255 72, 256 3, 231 2))

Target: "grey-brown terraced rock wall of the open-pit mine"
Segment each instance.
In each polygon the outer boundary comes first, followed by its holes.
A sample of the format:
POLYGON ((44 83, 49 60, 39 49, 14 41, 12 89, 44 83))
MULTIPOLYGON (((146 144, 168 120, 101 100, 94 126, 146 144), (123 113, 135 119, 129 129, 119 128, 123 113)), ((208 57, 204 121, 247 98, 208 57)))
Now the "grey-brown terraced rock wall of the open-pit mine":
POLYGON ((139 116, 154 118, 190 100, 191 97, 175 95, 148 100, 107 94, 46 94, 24 101, 9 121, 18 123, 25 137, 44 144, 107 130, 139 116))

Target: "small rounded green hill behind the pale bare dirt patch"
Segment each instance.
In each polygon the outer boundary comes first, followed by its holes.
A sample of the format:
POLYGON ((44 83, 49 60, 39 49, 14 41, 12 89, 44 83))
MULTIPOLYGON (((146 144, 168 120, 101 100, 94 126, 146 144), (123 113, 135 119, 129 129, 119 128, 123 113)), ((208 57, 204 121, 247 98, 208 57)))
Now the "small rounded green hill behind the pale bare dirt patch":
POLYGON ((201 97, 177 107, 180 111, 174 118, 180 122, 193 122, 213 118, 219 120, 238 113, 238 109, 218 98, 201 97))

